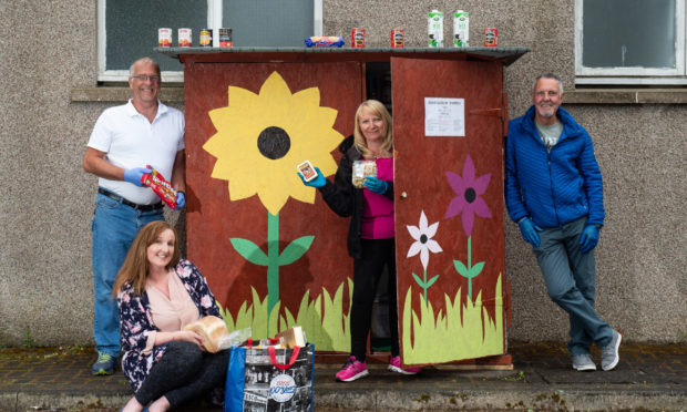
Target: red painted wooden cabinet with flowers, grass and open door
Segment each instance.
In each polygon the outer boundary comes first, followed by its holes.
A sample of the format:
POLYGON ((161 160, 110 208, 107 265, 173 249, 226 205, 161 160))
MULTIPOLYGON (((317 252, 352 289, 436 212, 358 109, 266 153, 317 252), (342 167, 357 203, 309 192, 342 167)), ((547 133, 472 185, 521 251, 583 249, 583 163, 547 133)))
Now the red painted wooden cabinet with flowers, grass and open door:
POLYGON ((319 359, 349 351, 348 219, 296 166, 308 159, 331 179, 373 96, 393 115, 404 364, 510 363, 503 66, 526 49, 157 51, 184 64, 188 257, 230 329, 264 338, 298 325, 319 359), (427 135, 443 121, 428 99, 459 102, 445 119, 462 136, 427 135))

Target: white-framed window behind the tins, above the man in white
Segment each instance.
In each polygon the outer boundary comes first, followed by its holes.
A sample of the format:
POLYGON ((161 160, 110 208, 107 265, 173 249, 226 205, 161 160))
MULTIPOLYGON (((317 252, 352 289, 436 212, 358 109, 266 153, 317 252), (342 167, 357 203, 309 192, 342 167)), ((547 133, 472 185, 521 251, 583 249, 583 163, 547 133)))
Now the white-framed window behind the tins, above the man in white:
POLYGON ((148 55, 160 63, 163 81, 183 81, 176 59, 156 53, 157 29, 170 28, 176 45, 180 28, 232 28, 235 47, 298 47, 321 34, 322 0, 98 0, 101 82, 126 81, 129 68, 148 55))

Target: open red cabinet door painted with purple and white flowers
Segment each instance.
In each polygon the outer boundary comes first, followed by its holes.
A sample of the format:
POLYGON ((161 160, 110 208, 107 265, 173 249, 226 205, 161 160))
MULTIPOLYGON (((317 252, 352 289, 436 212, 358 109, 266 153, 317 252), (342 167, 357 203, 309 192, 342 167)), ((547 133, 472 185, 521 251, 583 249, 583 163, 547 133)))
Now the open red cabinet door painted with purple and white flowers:
POLYGON ((502 65, 392 58, 391 76, 403 362, 503 354, 502 65), (425 97, 462 114, 428 119, 425 97), (437 119, 464 136, 427 136, 437 119))

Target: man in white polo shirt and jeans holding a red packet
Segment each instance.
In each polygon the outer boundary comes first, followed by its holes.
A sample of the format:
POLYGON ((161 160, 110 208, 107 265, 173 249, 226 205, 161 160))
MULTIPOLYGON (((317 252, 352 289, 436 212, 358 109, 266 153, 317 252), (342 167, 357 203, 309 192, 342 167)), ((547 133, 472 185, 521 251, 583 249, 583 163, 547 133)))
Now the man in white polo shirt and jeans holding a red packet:
POLYGON ((93 374, 112 374, 120 356, 120 325, 112 284, 139 229, 163 220, 160 197, 141 183, 157 169, 185 204, 184 115, 157 100, 160 65, 150 58, 130 69, 129 103, 106 109, 95 122, 83 156, 83 169, 99 177, 93 216, 93 337, 98 361, 93 374))

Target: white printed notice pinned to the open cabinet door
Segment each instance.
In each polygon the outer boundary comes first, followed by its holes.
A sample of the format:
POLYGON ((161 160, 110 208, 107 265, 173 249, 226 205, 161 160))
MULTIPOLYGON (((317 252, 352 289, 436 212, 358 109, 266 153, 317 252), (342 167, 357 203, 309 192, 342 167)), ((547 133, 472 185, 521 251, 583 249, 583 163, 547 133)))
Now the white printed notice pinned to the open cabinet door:
POLYGON ((465 136, 465 100, 424 97, 425 136, 465 136))

